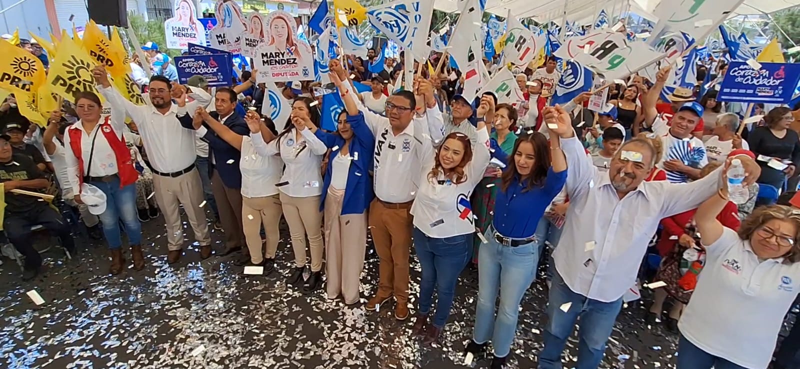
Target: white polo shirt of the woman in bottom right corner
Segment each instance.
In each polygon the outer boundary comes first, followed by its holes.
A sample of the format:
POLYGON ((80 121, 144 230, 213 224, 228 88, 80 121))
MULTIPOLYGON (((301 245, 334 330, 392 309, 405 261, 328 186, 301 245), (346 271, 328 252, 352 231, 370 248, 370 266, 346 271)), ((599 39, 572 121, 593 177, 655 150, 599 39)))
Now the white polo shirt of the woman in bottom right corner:
POLYGON ((783 316, 800 291, 800 263, 759 262, 750 241, 730 228, 706 249, 706 266, 678 328, 702 351, 763 369, 772 359, 783 316))

